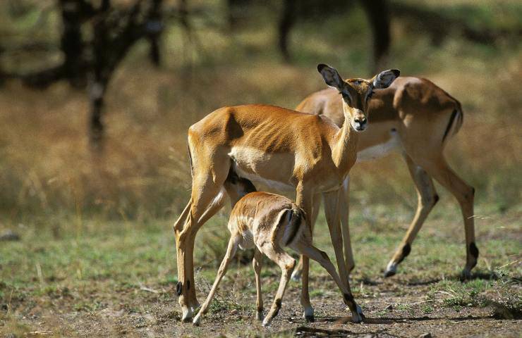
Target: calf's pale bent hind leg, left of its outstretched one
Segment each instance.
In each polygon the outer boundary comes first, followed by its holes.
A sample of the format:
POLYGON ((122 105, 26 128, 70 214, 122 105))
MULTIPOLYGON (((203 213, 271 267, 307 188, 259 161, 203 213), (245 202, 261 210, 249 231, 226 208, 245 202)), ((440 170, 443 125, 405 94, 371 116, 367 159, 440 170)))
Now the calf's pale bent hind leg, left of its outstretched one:
POLYGON ((296 260, 293 259, 288 253, 284 252, 279 246, 272 243, 261 246, 260 251, 270 258, 274 263, 279 265, 281 268, 281 280, 279 281, 279 287, 277 288, 276 296, 272 307, 267 313, 267 317, 263 320, 263 326, 268 326, 272 322, 272 319, 279 313, 281 309, 281 302, 283 300, 284 291, 286 285, 288 285, 290 276, 293 268, 296 267, 296 260))

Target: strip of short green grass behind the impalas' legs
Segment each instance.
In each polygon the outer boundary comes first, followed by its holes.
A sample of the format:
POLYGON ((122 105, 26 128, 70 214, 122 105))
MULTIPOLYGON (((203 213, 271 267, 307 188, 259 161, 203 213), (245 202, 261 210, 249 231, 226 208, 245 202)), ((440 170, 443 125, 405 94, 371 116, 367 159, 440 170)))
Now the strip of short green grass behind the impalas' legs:
MULTIPOLYGON (((356 208, 352 214, 358 213, 356 208)), ((430 313, 436 306, 489 306, 492 301, 498 301, 490 297, 492 293, 500 294, 500 299, 508 303, 506 306, 520 311, 521 294, 513 294, 513 290, 520 286, 521 276, 519 254, 522 248, 518 240, 519 224, 507 224, 504 228, 490 231, 485 229, 483 222, 478 222, 478 246, 481 256, 475 272, 480 276, 490 277, 463 284, 459 280, 464 263, 463 243, 462 238, 459 238, 463 237, 463 230, 461 220, 454 216, 456 213, 449 212, 445 217, 439 215, 434 217, 435 220, 427 222, 413 245, 411 255, 401 264, 399 273, 394 278, 398 281, 406 278, 405 282, 408 283, 439 280, 432 284, 427 300, 441 299, 442 295, 443 301, 423 305, 422 310, 425 313, 430 313), (454 227, 460 231, 454 230, 454 227), (504 233, 512 233, 515 236, 502 236, 504 233)), ((509 216, 504 215, 501 220, 509 216)), ((353 290, 356 296, 372 296, 360 291, 360 282, 380 278, 387 260, 399 244, 403 226, 392 227, 389 222, 393 223, 393 220, 377 220, 369 227, 368 223, 361 223, 358 218, 352 221, 353 246, 356 253, 353 290)), ((51 299, 71 297, 74 311, 99 311, 107 306, 107 299, 104 299, 106 295, 103 292, 100 298, 95 297, 91 301, 84 301, 81 297, 97 287, 114 288, 129 294, 146 293, 141 288, 147 287, 159 290, 160 296, 174 303, 174 294, 171 292, 174 291, 177 282, 174 277, 176 256, 174 234, 169 223, 167 220, 157 220, 146 225, 97 223, 96 228, 90 228, 91 223, 85 221, 85 229, 80 233, 63 232, 59 239, 54 238, 49 230, 35 231, 28 227, 25 232, 21 232, 22 241, 6 242, 0 246, 1 303, 8 306, 10 303, 19 305, 23 300, 47 303, 51 299)), ((216 254, 216 249, 209 249, 210 247, 205 245, 207 242, 202 242, 201 239, 208 240, 208 234, 216 233, 224 226, 224 222, 211 221, 202 228, 202 234, 196 244, 199 248, 196 251, 196 283, 204 293, 208 292, 214 281, 217 269, 214 264, 198 267, 204 263, 201 258, 216 254)), ((317 229, 324 227, 324 219, 320 218, 317 229)), ((329 237, 324 231, 317 232, 315 244, 334 258, 329 237)), ((222 254, 226 242, 221 242, 221 246, 222 254)), ((317 263, 312 262, 311 270, 315 278, 329 279, 317 263)), ((279 268, 265 260, 262 275, 265 294, 275 292, 279 275, 279 268)), ((255 295, 250 263, 233 264, 225 278, 229 281, 241 280, 242 284, 238 284, 238 289, 231 293, 219 293, 211 310, 251 310, 253 303, 238 300, 242 298, 243 293, 255 295)), ((323 296, 324 292, 324 289, 314 289, 312 296, 323 296)), ((411 311, 411 306, 401 304, 398 309, 407 312, 411 311)))

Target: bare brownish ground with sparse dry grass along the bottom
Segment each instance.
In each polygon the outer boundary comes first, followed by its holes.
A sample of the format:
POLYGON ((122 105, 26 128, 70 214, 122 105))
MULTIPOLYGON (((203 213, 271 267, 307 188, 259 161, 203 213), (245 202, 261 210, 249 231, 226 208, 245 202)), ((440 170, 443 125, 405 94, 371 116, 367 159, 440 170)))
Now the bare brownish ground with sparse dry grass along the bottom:
MULTIPOLYGON (((171 296, 175 294, 174 287, 119 289, 107 281, 85 284, 75 292, 59 289, 37 301, 11 299, 8 311, 20 320, 8 320, 0 331, 6 337, 16 327, 25 336, 79 337, 521 337, 522 332, 522 322, 516 319, 516 314, 511 319, 502 319, 513 314, 491 305, 442 306, 447 298, 444 292, 435 292, 433 299, 426 296, 430 284, 437 280, 410 283, 407 275, 400 279, 379 277, 353 282, 358 284, 356 299, 365 312, 362 324, 350 322, 339 292, 326 275, 315 276, 311 284, 311 290, 324 291, 318 295, 312 293, 316 320, 305 323, 301 318, 298 284, 291 282, 279 316, 271 327, 264 328, 253 315, 252 282, 234 271, 227 277, 220 287, 217 306, 211 308, 200 327, 180 323, 177 299, 171 296), (79 300, 97 305, 82 308, 78 306, 79 300)), ((272 284, 277 279, 275 274, 265 277, 272 284)), ((200 289, 206 292, 207 284, 200 285, 200 289)), ((272 294, 265 292, 265 308, 269 307, 272 294)), ((205 294, 200 292, 198 296, 202 301, 205 294)))

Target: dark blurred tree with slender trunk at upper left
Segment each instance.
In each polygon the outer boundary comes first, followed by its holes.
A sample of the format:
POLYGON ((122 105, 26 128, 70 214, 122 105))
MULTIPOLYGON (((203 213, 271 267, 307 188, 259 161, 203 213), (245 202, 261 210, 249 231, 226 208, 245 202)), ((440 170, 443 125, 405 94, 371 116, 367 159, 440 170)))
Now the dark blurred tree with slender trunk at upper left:
POLYGON ((128 1, 128 6, 114 6, 111 0, 59 0, 63 63, 35 73, 9 76, 21 78, 26 85, 40 89, 58 80, 68 80, 76 88, 87 87, 90 144, 93 149, 102 150, 104 96, 114 70, 142 38, 150 42, 152 63, 160 63, 162 1, 134 0, 128 1), (92 33, 90 39, 84 32, 92 33))

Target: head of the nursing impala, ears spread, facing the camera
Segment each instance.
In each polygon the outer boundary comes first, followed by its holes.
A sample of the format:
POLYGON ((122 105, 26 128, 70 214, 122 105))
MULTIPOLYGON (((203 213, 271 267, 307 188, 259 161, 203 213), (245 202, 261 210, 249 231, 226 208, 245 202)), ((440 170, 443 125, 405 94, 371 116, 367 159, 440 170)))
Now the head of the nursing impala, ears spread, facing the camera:
POLYGON ((324 82, 339 91, 343 96, 343 109, 346 118, 349 118, 353 130, 362 132, 368 127, 368 107, 374 89, 389 87, 391 82, 399 77, 399 70, 384 70, 371 80, 349 79, 343 80, 335 68, 329 65, 317 65, 324 82))

